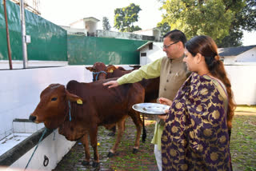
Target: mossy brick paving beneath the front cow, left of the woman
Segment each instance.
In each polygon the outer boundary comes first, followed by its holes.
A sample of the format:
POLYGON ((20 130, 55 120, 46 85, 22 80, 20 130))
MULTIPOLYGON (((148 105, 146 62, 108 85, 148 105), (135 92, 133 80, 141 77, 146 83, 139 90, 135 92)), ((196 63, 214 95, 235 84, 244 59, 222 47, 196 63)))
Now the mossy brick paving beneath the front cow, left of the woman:
POLYGON ((140 144, 139 152, 134 154, 132 149, 134 146, 135 140, 135 125, 130 118, 126 121, 126 131, 123 134, 122 142, 118 146, 118 155, 114 157, 107 157, 107 154, 114 145, 114 137, 109 137, 107 133, 110 131, 106 130, 103 127, 99 128, 98 131, 98 153, 100 155, 101 165, 98 168, 93 168, 91 166, 93 151, 90 147, 90 156, 91 162, 90 166, 83 166, 81 164, 84 159, 84 149, 80 141, 77 141, 76 144, 70 152, 62 158, 54 169, 54 171, 62 170, 147 170, 147 171, 157 171, 157 165, 154 159, 154 145, 150 143, 153 134, 154 134, 154 121, 146 118, 146 130, 147 137, 146 143, 140 144))

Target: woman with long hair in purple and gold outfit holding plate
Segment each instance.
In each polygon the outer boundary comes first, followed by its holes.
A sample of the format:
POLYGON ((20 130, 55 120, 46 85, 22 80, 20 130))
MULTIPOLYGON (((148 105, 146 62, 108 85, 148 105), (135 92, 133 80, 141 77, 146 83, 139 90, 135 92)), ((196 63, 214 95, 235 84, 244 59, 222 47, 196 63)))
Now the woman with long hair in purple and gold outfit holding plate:
POLYGON ((214 40, 190 39, 183 61, 190 78, 173 102, 159 99, 171 104, 162 133, 162 170, 232 170, 229 131, 235 106, 214 40))

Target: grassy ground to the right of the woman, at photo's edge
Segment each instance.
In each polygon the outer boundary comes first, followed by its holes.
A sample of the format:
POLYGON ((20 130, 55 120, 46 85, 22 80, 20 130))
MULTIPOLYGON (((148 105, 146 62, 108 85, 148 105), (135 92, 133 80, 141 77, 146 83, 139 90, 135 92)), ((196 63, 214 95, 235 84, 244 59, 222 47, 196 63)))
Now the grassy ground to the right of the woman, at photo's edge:
POLYGON ((256 106, 239 105, 235 111, 230 141, 234 171, 256 171, 256 106))

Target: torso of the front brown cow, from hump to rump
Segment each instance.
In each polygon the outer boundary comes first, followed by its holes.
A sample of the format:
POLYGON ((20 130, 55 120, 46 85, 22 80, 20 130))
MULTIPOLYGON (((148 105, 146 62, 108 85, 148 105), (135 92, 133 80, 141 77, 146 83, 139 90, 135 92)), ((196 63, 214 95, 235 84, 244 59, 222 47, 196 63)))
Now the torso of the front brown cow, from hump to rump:
POLYGON ((119 85, 114 88, 102 85, 104 82, 116 79, 110 78, 90 83, 70 81, 66 89, 83 98, 82 114, 84 116, 90 116, 93 121, 98 122, 98 125, 107 125, 119 121, 127 111, 133 110, 132 105, 144 101, 145 91, 139 83, 119 85))

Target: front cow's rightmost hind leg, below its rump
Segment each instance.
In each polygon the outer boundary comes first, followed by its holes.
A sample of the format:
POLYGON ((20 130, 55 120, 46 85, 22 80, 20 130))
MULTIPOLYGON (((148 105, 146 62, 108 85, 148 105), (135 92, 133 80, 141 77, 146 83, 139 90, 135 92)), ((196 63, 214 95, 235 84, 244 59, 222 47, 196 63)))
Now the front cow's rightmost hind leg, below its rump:
POLYGON ((130 111, 130 117, 133 119, 134 124, 136 126, 137 129, 137 133, 136 133, 136 140, 135 140, 135 144, 134 144, 134 153, 138 152, 138 146, 139 146, 139 138, 141 136, 142 133, 142 119, 139 115, 138 112, 136 111, 130 111))

